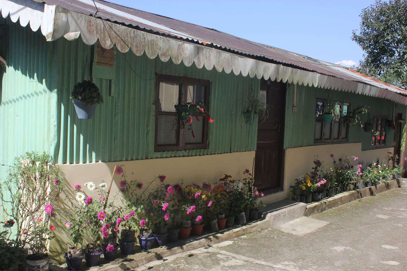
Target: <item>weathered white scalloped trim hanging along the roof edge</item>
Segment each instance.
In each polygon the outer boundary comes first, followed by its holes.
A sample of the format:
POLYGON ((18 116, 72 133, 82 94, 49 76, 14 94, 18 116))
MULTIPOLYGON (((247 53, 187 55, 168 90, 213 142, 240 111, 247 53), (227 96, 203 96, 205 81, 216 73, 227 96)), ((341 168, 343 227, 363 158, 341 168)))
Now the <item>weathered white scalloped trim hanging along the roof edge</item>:
POLYGON ((227 74, 233 71, 235 75, 242 74, 243 76, 249 75, 251 78, 256 76, 258 79, 263 77, 266 80, 270 78, 290 84, 354 92, 407 104, 407 97, 398 94, 403 90, 341 67, 333 68, 354 80, 368 83, 267 63, 198 44, 154 35, 54 5, 32 0, 18 0, 18 2, 20 4, 10 0, 0 0, 2 17, 10 16, 12 22, 19 20, 21 26, 27 26, 29 23, 33 31, 37 31, 41 27, 41 33, 47 41, 54 41, 60 37, 73 40, 80 36, 82 41, 88 45, 99 40, 106 49, 116 45, 120 52, 127 52, 131 49, 138 56, 145 52, 150 59, 159 56, 162 61, 166 62, 171 58, 175 64, 183 62, 187 67, 195 63, 198 68, 205 67, 211 70, 214 67, 218 72, 223 70, 227 74))

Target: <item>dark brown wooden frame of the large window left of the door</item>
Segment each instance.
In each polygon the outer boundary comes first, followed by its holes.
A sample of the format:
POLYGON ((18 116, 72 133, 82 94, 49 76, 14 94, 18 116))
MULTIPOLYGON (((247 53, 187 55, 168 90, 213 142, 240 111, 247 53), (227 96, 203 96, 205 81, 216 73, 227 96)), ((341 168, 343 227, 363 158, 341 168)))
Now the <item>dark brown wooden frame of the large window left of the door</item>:
MULTIPOLYGON (((182 151, 182 150, 196 150, 196 149, 207 149, 208 148, 208 119, 202 118, 203 121, 203 139, 202 143, 185 143, 186 133, 191 132, 187 128, 181 129, 179 127, 179 122, 177 124, 177 142, 175 145, 158 145, 157 144, 157 133, 158 133, 158 116, 159 115, 177 115, 176 112, 160 112, 158 111, 158 104, 160 100, 160 82, 171 82, 179 83, 182 82, 180 86, 180 91, 178 93, 178 104, 183 104, 187 102, 188 95, 188 85, 201 85, 205 87, 204 103, 206 110, 209 112, 209 92, 210 92, 210 81, 196 78, 179 77, 172 75, 158 75, 155 86, 155 132, 154 132, 154 152, 168 152, 168 151, 182 151)), ((199 114, 204 116, 203 114, 199 114)), ((188 125, 188 124, 186 124, 188 125)))

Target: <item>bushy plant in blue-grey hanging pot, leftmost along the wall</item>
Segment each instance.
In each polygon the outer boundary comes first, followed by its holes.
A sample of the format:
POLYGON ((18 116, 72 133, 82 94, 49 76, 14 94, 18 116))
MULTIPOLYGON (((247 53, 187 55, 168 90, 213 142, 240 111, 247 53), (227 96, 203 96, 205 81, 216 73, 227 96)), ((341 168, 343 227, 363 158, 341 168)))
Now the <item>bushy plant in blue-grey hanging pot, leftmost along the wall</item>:
POLYGON ((79 119, 92 119, 96 105, 103 103, 99 88, 91 81, 83 80, 74 85, 70 96, 79 119))

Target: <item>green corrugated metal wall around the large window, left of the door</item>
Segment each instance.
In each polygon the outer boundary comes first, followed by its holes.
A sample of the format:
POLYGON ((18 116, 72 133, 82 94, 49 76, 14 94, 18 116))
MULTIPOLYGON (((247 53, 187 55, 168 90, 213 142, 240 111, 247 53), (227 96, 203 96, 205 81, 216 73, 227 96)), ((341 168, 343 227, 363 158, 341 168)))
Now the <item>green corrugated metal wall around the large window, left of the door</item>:
MULTIPOLYGON (((242 152, 256 149, 257 126, 242 123, 241 99, 251 88, 258 93, 260 80, 185 67, 132 52, 116 54, 115 93, 109 96, 109 80, 94 79, 104 103, 97 106, 92 120, 79 120, 69 99, 73 85, 81 80, 91 47, 82 41, 56 41, 58 63, 59 163, 91 163, 175 156, 195 156, 242 152), (132 66, 133 72, 128 63, 132 66), (79 61, 78 61, 79 60, 79 61), (176 152, 154 152, 154 112, 156 73, 211 81, 209 148, 176 152), (137 75, 136 75, 137 74, 137 75)), ((89 68, 87 67, 86 70, 89 68)), ((85 78, 89 77, 86 72, 85 78)))

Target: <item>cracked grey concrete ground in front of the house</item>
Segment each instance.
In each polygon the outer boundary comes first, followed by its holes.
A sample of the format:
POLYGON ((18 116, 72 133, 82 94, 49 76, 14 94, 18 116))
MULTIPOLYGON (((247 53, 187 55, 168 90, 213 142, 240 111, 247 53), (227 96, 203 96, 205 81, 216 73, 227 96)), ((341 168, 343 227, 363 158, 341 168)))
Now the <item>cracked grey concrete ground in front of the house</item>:
POLYGON ((135 270, 407 270, 406 186, 311 218, 320 221, 309 223, 314 227, 309 231, 307 220, 298 220, 280 227, 284 232, 254 232, 156 260, 135 270))

